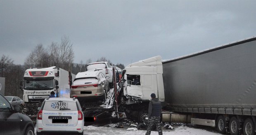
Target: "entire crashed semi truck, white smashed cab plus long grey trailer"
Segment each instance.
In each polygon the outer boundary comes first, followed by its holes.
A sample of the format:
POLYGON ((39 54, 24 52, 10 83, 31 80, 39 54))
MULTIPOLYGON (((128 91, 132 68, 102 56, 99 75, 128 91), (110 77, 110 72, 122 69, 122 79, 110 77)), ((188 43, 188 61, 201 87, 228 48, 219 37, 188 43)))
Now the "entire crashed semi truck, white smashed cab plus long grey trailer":
POLYGON ((119 112, 142 121, 156 93, 166 103, 163 122, 256 135, 255 58, 256 37, 250 37, 168 61, 156 56, 132 63, 123 71, 119 112))

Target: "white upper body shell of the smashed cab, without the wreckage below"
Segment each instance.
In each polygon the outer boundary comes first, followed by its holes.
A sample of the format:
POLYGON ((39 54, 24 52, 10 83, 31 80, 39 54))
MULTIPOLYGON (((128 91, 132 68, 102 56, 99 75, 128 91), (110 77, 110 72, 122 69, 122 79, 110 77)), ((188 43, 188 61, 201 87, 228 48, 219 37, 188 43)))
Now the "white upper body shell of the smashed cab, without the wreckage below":
POLYGON ((125 67, 123 94, 132 104, 136 100, 150 100, 150 94, 155 93, 156 98, 164 101, 163 67, 161 56, 155 56, 125 67), (139 83, 136 81, 139 79, 139 83))

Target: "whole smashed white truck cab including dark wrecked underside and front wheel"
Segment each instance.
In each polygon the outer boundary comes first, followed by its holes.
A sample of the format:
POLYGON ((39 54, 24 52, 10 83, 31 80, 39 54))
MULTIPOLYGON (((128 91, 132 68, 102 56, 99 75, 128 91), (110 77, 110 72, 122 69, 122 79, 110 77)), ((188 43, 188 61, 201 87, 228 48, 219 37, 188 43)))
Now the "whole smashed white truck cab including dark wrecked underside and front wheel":
POLYGON ((164 101, 163 67, 161 56, 155 56, 136 63, 132 63, 123 70, 121 88, 123 88, 122 102, 126 104, 129 114, 143 121, 147 117, 150 94, 164 101))

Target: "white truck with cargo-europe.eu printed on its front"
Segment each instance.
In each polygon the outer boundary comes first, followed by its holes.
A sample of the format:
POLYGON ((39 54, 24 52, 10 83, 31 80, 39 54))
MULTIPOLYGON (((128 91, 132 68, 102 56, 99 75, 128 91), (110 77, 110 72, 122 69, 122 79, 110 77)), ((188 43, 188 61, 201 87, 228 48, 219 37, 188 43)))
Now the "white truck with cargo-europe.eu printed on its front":
POLYGON ((70 98, 70 86, 75 74, 57 67, 31 67, 20 83, 24 102, 43 102, 51 91, 56 97, 70 98))

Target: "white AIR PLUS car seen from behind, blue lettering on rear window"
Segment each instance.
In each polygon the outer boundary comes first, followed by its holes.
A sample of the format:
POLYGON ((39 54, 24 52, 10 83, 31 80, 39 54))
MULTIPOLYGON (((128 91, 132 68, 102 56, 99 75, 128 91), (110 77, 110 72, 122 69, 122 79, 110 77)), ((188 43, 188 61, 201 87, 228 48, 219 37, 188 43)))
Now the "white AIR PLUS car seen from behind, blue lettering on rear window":
POLYGON ((83 135, 84 116, 75 98, 45 99, 36 119, 36 133, 78 133, 83 135))

